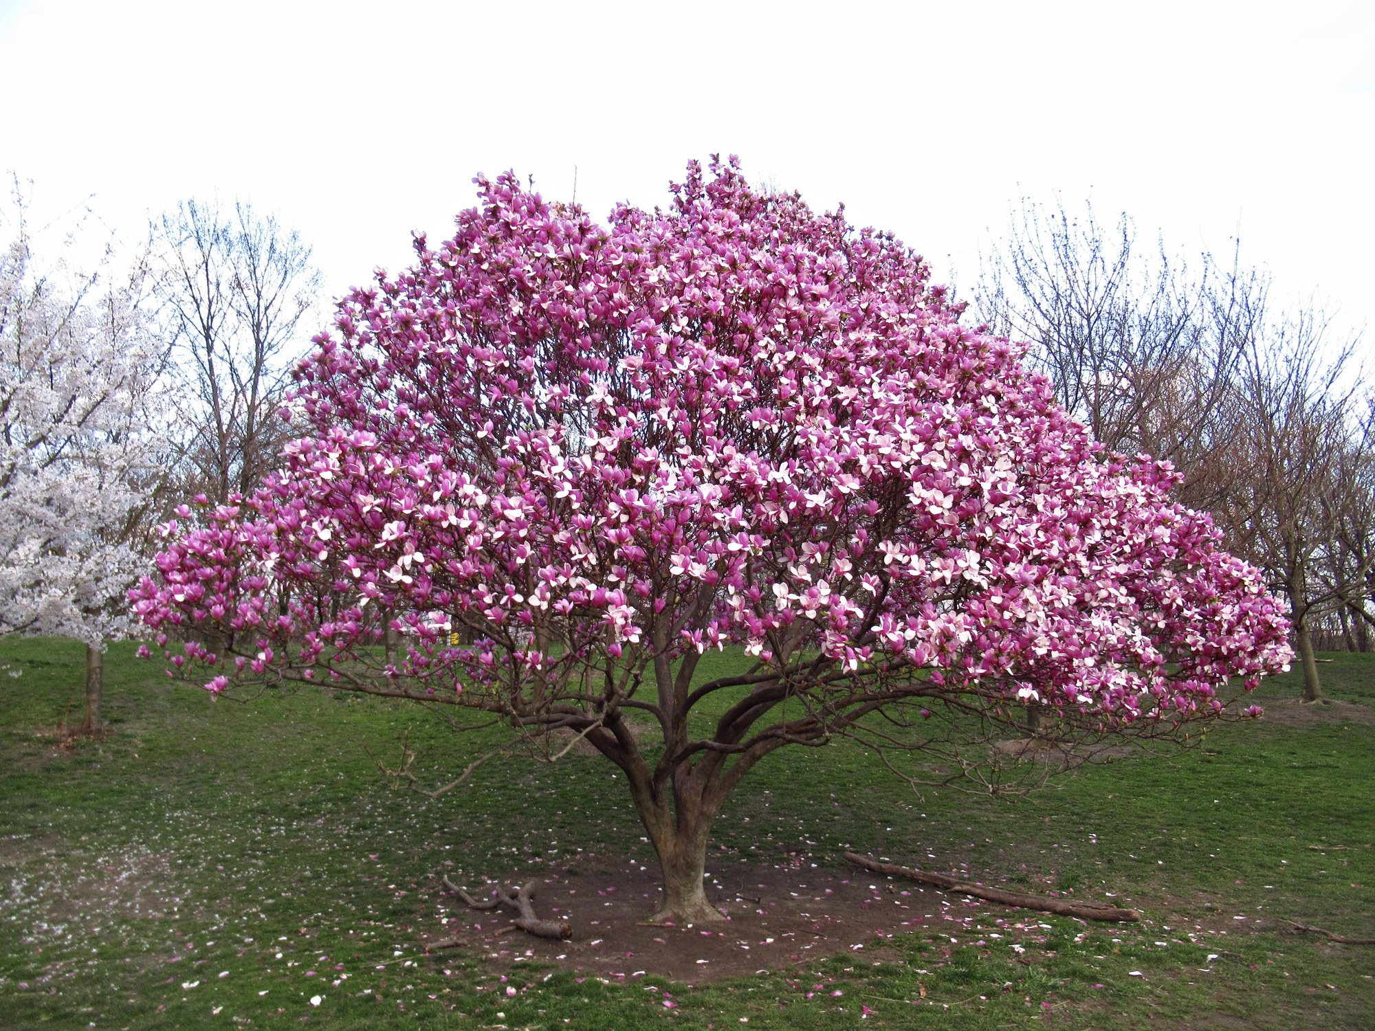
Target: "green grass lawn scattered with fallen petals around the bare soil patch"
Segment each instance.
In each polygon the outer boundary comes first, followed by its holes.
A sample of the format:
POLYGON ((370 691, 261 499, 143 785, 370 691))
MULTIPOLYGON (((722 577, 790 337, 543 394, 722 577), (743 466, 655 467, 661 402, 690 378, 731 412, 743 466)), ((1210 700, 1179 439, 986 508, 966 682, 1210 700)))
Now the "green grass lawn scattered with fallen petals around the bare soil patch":
POLYGON ((806 852, 839 870, 846 847, 912 863, 938 848, 1037 891, 1111 892, 1148 922, 1022 910, 1026 927, 996 939, 1011 914, 984 906, 956 943, 887 939, 901 960, 851 953, 650 993, 648 979, 430 958, 417 938, 437 931, 437 870, 642 856, 604 760, 491 763, 437 800, 393 793, 370 751, 392 760, 408 733, 439 784, 474 745, 414 709, 319 690, 212 704, 132 654, 107 657, 113 735, 66 753, 41 733, 80 719, 82 646, 0 641, 0 665, 23 668, 0 675, 3 1028, 1375 1027, 1375 947, 1279 922, 1375 938, 1375 656, 1324 656, 1346 704, 1284 707, 1298 683, 1276 678, 1260 691, 1273 719, 1018 804, 917 799, 848 745, 778 753, 718 823, 742 858, 806 852), (844 804, 813 804, 822 790, 844 804))

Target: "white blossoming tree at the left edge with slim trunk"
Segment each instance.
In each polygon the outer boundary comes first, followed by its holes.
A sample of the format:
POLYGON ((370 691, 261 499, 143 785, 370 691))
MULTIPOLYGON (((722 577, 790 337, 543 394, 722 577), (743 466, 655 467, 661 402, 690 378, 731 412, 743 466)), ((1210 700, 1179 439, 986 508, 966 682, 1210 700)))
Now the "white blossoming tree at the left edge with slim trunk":
MULTIPOLYGON (((16 191, 18 194, 18 191, 16 191)), ((160 445, 165 348, 142 265, 38 268, 18 197, 0 250, 0 635, 87 643, 85 730, 100 726, 104 641, 129 627, 124 591, 160 445)))

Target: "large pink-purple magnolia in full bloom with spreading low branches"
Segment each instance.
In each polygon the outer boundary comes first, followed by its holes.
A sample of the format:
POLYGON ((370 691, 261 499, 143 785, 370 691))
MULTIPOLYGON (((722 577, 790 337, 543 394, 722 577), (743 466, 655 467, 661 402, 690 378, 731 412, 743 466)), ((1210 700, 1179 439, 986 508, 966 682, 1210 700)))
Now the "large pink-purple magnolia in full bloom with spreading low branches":
POLYGON ((710 921, 712 819, 780 748, 994 789, 1028 707, 1081 756, 1288 660, 1170 469, 1097 448, 891 235, 734 162, 605 227, 477 181, 316 338, 285 472, 164 528, 138 613, 224 642, 168 647, 182 675, 468 709, 510 735, 474 764, 582 738, 659 854, 653 918, 710 921), (725 646, 740 672, 700 682, 725 646))

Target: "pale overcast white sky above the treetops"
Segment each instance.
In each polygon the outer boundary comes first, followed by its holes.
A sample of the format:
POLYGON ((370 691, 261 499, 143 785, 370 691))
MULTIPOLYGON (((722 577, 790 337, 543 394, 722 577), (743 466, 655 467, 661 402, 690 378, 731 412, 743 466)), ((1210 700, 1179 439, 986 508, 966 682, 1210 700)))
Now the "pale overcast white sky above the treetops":
POLYGON ((689 157, 898 232, 971 283, 1022 195, 1092 197, 1375 329, 1375 4, 0 0, 0 169, 125 238, 274 210, 331 294, 514 168, 597 216, 689 157))

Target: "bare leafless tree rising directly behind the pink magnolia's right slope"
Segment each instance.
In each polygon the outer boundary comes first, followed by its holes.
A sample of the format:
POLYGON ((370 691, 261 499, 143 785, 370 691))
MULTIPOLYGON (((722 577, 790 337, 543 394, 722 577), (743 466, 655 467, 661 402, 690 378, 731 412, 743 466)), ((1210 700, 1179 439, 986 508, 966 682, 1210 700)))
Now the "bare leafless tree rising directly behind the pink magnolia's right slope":
POLYGON ((1028 363, 1110 451, 1150 454, 1185 476, 1228 447, 1217 418, 1255 322, 1264 276, 1202 256, 1198 275, 1163 246, 1143 257, 1125 214, 1110 228, 1092 208, 1071 216, 1023 201, 1004 246, 983 261, 974 313, 1000 335, 1028 341, 1028 363))

